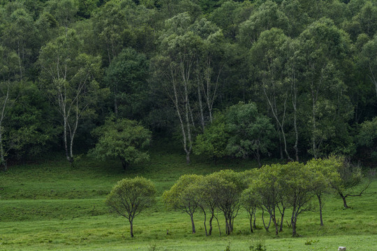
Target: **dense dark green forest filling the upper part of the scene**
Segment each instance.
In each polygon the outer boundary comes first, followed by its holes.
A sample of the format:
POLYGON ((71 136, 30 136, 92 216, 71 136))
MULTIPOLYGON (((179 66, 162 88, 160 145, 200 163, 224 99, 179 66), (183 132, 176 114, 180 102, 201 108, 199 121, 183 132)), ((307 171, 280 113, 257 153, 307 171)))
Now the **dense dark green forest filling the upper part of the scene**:
POLYGON ((187 162, 377 157, 375 1, 0 1, 0 31, 3 169, 73 162, 109 118, 187 162))

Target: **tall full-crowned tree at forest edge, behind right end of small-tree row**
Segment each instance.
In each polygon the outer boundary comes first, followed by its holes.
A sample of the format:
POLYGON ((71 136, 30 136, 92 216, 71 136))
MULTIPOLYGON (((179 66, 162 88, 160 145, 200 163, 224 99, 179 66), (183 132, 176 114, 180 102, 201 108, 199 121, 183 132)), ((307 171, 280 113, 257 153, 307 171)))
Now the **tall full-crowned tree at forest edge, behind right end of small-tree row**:
POLYGON ((337 126, 346 123, 352 112, 341 67, 349 53, 349 39, 325 18, 313 22, 297 39, 295 60, 310 100, 304 108, 311 111, 309 152, 317 158, 326 141, 337 135, 337 126))

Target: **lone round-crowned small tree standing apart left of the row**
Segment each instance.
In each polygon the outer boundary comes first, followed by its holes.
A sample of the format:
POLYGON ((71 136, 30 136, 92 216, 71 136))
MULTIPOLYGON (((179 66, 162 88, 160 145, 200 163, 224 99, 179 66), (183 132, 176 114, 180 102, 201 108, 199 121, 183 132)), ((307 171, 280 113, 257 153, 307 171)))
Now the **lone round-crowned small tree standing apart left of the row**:
POLYGON ((112 211, 130 222, 133 237, 133 219, 155 202, 154 183, 142 177, 124 178, 112 188, 105 203, 112 211))

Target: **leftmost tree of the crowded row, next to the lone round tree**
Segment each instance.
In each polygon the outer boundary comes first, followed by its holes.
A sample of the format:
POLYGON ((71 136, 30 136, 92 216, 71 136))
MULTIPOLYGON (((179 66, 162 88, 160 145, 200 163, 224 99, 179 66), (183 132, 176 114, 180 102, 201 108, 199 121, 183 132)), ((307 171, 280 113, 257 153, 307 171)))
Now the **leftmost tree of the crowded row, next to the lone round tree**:
POLYGON ((167 206, 190 215, 193 234, 195 234, 193 215, 199 206, 198 196, 193 193, 193 186, 201 178, 202 176, 195 174, 185 174, 179 177, 177 183, 170 190, 163 193, 163 201, 167 206))

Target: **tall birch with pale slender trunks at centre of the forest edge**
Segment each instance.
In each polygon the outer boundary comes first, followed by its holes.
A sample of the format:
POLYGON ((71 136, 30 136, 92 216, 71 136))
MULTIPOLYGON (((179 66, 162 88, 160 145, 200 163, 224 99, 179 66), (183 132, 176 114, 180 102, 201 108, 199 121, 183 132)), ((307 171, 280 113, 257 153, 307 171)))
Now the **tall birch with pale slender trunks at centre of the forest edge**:
POLYGON ((191 22, 187 13, 172 17, 165 24, 166 37, 162 36, 161 56, 154 59, 154 74, 162 77, 165 94, 169 96, 179 119, 182 144, 186 153, 186 162, 190 162, 193 149, 193 73, 196 56, 200 53, 202 42, 192 31, 187 31, 191 22))

